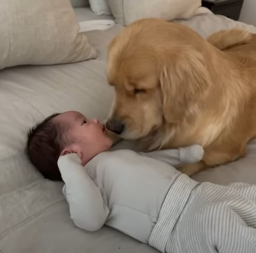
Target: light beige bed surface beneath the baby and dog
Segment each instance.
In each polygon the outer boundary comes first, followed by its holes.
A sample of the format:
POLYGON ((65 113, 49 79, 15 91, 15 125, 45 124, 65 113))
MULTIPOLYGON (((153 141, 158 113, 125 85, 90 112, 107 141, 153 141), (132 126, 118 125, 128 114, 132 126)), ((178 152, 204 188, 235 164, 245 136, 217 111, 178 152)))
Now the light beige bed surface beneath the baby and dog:
MULTIPOLYGON (((87 8, 76 9, 76 14, 80 21, 99 18, 87 8)), ((253 26, 214 14, 175 22, 192 27, 204 37, 231 27, 256 32, 253 26)), ((115 25, 108 30, 86 33, 98 52, 95 60, 20 66, 0 72, 0 252, 158 252, 110 227, 94 233, 75 227, 61 192, 63 183, 44 179, 24 153, 28 128, 52 113, 77 110, 87 117, 107 118, 114 95, 106 75, 107 45, 121 29, 122 26, 115 25)), ((116 148, 128 144, 120 143, 116 148)), ((245 158, 203 171, 193 178, 218 184, 235 181, 255 184, 255 164, 256 140, 253 140, 248 144, 245 158)))

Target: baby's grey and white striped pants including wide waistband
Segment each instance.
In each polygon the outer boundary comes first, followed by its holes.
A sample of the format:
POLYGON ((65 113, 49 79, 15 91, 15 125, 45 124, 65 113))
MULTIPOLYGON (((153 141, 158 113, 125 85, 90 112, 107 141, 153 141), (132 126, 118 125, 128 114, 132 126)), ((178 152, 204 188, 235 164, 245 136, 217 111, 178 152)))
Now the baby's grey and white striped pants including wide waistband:
POLYGON ((256 253, 256 185, 196 184, 181 175, 158 220, 150 244, 162 252, 256 253), (182 211, 173 211, 180 204, 182 211))

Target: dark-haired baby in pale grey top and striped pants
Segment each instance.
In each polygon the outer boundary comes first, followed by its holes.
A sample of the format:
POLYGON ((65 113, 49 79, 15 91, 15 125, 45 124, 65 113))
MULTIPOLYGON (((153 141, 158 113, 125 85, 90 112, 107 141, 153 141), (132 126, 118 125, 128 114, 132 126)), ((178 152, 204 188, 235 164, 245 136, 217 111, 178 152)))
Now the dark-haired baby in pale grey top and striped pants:
POLYGON ((108 151, 105 126, 70 111, 32 128, 27 153, 49 179, 63 179, 76 226, 104 224, 161 252, 256 252, 256 186, 198 183, 173 166, 203 149, 108 151))

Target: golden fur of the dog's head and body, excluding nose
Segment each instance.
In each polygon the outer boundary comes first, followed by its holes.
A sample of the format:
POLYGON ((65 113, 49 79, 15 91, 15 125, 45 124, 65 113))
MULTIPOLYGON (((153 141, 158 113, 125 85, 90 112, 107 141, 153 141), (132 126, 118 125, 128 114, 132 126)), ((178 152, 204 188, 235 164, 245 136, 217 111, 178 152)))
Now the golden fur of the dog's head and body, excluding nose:
POLYGON ((238 29, 204 40, 187 26, 158 19, 126 27, 109 46, 110 118, 121 137, 149 150, 198 143, 192 175, 245 155, 256 136, 256 35, 238 29))

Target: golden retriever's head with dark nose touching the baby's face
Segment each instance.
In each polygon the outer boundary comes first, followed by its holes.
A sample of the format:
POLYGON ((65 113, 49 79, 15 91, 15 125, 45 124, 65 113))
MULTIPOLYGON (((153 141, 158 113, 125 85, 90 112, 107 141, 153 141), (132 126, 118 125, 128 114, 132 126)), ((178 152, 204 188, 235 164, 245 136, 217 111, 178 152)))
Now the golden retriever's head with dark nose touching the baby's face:
POLYGON ((192 29, 139 20, 109 46, 108 80, 116 90, 107 127, 125 139, 178 124, 210 83, 208 44, 192 29))

